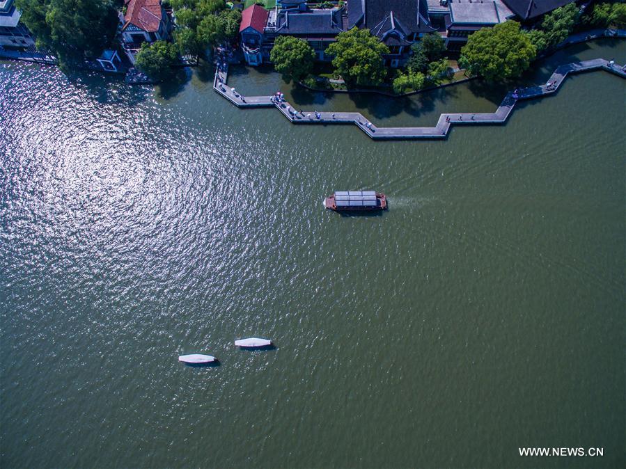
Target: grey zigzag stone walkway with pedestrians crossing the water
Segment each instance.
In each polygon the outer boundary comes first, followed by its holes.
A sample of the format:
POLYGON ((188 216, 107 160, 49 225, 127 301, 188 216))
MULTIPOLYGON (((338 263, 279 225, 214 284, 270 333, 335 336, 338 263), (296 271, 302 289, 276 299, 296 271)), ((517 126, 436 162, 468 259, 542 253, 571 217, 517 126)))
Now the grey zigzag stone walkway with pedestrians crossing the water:
POLYGON ((370 124, 361 113, 357 112, 321 112, 316 116, 313 111, 296 112, 292 104, 286 101, 276 102, 272 100, 272 96, 243 96, 226 85, 228 64, 217 67, 213 89, 240 108, 275 107, 294 124, 352 124, 375 140, 446 138, 453 125, 503 124, 518 101, 532 100, 556 93, 568 74, 606 70, 626 79, 625 68, 617 64, 609 65, 609 61, 603 58, 561 65, 554 70, 547 84, 519 88, 516 90, 517 93, 515 91, 507 93, 494 113, 441 114, 435 127, 377 127, 370 124))

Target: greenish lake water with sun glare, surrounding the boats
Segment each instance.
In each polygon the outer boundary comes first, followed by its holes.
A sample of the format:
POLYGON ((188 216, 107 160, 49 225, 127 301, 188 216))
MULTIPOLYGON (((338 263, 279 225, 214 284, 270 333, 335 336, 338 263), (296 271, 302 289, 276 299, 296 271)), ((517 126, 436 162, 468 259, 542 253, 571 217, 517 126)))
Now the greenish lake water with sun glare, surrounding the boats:
MULTIPOLYGON (((625 63, 626 43, 521 83, 597 57, 625 63)), ((576 75, 504 126, 373 142, 236 109, 210 69, 156 90, 24 63, 0 78, 3 468, 626 463, 625 80, 576 75), (389 211, 325 211, 341 189, 389 211), (235 349, 254 335, 276 349, 235 349)), ((503 95, 231 84, 379 125, 503 95)))

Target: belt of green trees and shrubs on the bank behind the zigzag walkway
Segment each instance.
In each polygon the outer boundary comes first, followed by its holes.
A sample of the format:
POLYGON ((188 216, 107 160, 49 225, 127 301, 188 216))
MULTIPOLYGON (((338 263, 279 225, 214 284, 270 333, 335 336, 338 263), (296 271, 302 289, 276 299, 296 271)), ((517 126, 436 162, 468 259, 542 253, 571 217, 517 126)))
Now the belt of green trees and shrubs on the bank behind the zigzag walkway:
POLYGON ((295 74, 283 73, 287 81, 294 79, 309 88, 371 88, 399 95, 468 76, 484 77, 492 83, 515 79, 528 70, 538 56, 554 49, 570 34, 607 27, 626 27, 623 0, 589 6, 582 14, 579 7, 570 3, 545 15, 532 29, 522 29, 515 21, 480 29, 469 35, 460 51, 457 63, 462 70, 455 70, 454 62, 446 55, 445 40, 437 33, 424 35, 415 42, 407 63, 398 70, 384 67, 383 56, 389 54, 389 49, 369 31, 356 28, 339 33, 336 42, 329 45, 326 53, 334 56, 330 73, 318 70, 313 74, 311 70, 324 67, 299 63, 299 56, 315 54, 308 44, 299 43, 297 53, 285 50, 270 58, 281 73, 287 69, 297 70, 295 74))

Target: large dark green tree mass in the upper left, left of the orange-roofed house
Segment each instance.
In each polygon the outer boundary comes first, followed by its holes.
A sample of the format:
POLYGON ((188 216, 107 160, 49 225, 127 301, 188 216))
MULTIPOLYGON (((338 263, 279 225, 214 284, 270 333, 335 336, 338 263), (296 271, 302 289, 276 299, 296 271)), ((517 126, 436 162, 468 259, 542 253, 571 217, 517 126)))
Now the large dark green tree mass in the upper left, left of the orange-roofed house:
POLYGON ((100 56, 109 46, 118 6, 113 0, 17 0, 37 46, 52 49, 65 66, 100 56))

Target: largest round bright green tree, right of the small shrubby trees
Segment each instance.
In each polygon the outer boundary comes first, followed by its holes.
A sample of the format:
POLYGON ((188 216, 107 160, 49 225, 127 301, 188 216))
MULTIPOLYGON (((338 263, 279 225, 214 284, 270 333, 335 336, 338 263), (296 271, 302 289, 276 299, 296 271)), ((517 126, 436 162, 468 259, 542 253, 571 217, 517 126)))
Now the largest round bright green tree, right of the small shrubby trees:
POLYGON ((488 81, 519 77, 537 56, 537 49, 519 23, 507 21, 469 36, 459 64, 488 81))

